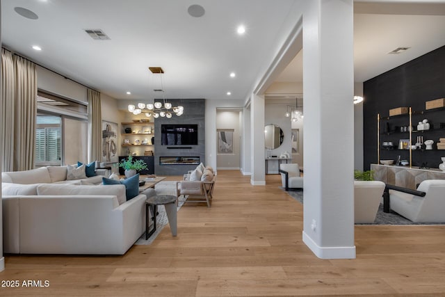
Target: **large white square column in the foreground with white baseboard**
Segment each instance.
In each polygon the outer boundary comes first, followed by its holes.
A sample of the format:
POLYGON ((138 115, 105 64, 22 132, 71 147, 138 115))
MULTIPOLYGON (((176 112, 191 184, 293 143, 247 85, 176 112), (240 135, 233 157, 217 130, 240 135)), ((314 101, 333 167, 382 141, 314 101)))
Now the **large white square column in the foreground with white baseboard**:
POLYGON ((303 241, 322 259, 355 258, 353 0, 305 5, 303 241))

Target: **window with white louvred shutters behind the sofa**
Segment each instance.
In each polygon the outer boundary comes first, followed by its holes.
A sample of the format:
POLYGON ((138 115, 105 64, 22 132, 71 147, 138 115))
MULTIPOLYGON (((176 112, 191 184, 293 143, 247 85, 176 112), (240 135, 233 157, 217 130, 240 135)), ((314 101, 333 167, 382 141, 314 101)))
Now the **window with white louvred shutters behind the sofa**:
POLYGON ((55 115, 37 115, 35 133, 35 165, 59 166, 61 160, 60 121, 55 115))

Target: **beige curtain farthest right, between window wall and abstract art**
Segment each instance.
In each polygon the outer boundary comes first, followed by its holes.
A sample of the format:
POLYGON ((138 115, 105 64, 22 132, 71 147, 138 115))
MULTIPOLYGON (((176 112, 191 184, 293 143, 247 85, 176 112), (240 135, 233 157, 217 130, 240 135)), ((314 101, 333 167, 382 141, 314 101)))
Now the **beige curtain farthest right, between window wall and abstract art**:
POLYGON ((102 111, 100 93, 88 89, 88 162, 101 161, 102 111))

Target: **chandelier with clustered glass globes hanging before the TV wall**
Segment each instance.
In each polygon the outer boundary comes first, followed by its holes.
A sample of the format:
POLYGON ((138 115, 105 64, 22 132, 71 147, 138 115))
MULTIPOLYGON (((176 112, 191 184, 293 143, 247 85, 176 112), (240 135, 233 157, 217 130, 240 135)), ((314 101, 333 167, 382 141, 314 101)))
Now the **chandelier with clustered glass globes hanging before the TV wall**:
POLYGON ((128 111, 133 113, 133 115, 139 115, 140 113, 145 113, 145 116, 147 118, 151 117, 153 115, 153 118, 159 118, 159 117, 165 117, 165 118, 172 118, 172 115, 175 114, 177 116, 180 116, 184 113, 184 106, 172 106, 170 102, 165 102, 165 96, 164 96, 164 89, 163 89, 163 81, 162 81, 162 74, 164 73, 163 69, 161 67, 149 67, 149 70, 152 73, 160 74, 161 76, 161 90, 155 90, 155 91, 161 91, 162 92, 162 98, 163 102, 154 102, 152 103, 138 103, 137 105, 129 104, 128 111))

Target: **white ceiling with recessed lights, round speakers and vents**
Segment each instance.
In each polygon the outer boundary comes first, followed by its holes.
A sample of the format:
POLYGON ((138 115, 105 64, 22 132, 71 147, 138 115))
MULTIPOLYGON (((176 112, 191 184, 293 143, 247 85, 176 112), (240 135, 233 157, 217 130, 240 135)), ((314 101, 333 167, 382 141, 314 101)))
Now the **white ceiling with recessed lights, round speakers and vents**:
MULTIPOLYGON (((245 99, 284 40, 298 1, 197 2, 202 17, 188 14, 196 4, 188 0, 2 0, 1 38, 17 54, 116 99, 159 97, 153 90, 161 88, 160 74, 149 66, 163 67, 165 97, 245 99), (236 33, 240 24, 244 35, 236 33), (110 40, 93 40, 84 29, 102 29, 110 40)), ((385 2, 355 1, 355 81, 445 45, 445 1, 385 2), (410 49, 387 54, 397 47, 410 49)), ((276 81, 302 81, 302 51, 276 81)))

